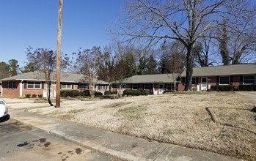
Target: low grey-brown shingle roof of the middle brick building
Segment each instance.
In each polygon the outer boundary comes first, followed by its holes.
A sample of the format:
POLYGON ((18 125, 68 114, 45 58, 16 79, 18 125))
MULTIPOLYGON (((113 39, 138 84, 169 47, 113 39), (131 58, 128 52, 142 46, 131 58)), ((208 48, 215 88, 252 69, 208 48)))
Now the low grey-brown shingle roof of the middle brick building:
POLYGON ((134 75, 126 78, 123 83, 173 83, 178 74, 159 74, 159 75, 134 75))

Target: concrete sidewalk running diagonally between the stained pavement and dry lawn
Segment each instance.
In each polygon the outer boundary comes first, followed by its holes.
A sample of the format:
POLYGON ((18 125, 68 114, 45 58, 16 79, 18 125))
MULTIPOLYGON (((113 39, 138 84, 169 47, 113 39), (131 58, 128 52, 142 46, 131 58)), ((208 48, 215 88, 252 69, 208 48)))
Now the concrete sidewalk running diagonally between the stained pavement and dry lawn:
POLYGON ((82 124, 62 121, 34 113, 10 108, 11 119, 100 151, 120 160, 238 160, 208 151, 189 149, 169 143, 146 141, 128 135, 87 127, 82 124))

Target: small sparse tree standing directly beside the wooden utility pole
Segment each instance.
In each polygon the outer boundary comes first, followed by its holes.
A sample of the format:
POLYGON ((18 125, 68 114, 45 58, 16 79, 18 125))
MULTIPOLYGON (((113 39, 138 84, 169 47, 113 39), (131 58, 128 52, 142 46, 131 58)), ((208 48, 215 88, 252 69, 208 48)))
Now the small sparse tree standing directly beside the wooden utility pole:
MULTIPOLYGON (((56 70, 56 52, 48 48, 36 48, 33 50, 31 46, 26 50, 26 59, 29 63, 34 64, 34 67, 40 70, 43 74, 43 78, 45 78, 45 83, 47 85, 47 100, 50 105, 53 105, 50 99, 50 87, 52 78, 56 78, 56 75, 53 75, 54 70, 56 70)), ((67 55, 62 56, 61 61, 61 69, 64 70, 70 64, 69 58, 67 55)), ((41 75, 38 75, 38 77, 40 76, 41 75)))

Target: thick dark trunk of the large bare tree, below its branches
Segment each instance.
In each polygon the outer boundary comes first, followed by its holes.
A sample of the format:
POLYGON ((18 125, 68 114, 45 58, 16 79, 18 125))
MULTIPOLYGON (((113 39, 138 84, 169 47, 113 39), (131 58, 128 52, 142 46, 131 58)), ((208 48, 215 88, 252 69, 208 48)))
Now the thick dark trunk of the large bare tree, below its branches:
POLYGON ((186 56, 186 84, 185 84, 185 91, 189 91, 192 85, 192 75, 193 75, 193 67, 194 67, 194 55, 192 52, 191 45, 188 48, 188 53, 186 56))

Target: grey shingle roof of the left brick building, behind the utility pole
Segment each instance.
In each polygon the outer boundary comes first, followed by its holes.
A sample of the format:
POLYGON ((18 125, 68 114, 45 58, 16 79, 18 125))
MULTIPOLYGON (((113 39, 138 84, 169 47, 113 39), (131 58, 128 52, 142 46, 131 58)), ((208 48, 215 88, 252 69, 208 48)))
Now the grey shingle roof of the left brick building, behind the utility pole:
MULTIPOLYGON (((23 81, 45 81, 43 72, 39 70, 34 72, 26 72, 21 75, 15 75, 9 78, 1 79, 0 81, 15 81, 15 80, 23 80, 23 81)), ((52 81, 56 81, 56 72, 53 72, 52 81), (55 77, 54 77, 55 76, 55 77)), ((61 82, 70 82, 70 83, 89 83, 89 78, 84 77, 82 74, 76 74, 71 72, 61 72, 60 75, 61 82)), ((100 81, 94 79, 98 84, 109 84, 105 81, 100 81)))

